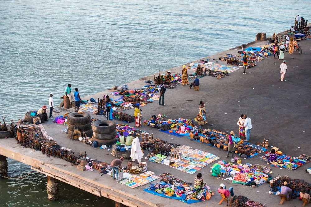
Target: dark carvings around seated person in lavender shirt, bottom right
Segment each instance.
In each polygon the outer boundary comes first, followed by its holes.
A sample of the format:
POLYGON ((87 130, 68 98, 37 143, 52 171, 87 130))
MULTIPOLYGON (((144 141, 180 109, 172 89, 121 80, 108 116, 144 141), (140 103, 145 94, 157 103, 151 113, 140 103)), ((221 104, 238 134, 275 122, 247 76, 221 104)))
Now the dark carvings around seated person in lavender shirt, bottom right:
POLYGON ((281 186, 284 182, 287 182, 287 187, 292 190, 292 195, 299 196, 299 192, 303 188, 311 189, 311 183, 305 182, 301 179, 291 179, 288 176, 278 176, 270 181, 270 191, 269 194, 279 195, 281 192, 281 186))

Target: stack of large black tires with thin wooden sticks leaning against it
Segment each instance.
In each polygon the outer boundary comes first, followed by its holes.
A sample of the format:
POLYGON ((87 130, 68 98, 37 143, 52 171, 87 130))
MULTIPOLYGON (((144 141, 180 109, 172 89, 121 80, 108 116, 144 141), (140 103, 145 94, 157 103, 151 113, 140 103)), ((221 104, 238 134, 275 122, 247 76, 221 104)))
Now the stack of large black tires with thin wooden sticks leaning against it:
POLYGON ((84 133, 87 137, 93 136, 92 126, 91 126, 91 115, 89 113, 70 113, 67 115, 68 122, 68 137, 72 138, 73 131, 75 129, 81 130, 81 137, 85 137, 84 133))

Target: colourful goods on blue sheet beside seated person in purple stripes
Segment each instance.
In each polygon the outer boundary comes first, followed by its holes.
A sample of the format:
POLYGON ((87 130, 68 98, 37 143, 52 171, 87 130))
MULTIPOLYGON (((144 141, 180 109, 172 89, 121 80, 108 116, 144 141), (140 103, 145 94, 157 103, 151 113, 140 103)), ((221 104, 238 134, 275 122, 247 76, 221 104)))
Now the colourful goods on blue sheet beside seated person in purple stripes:
MULTIPOLYGON (((270 153, 271 152, 267 152, 265 155, 262 155, 260 160, 268 162, 270 153)), ((288 170, 294 170, 311 161, 311 156, 309 155, 303 154, 303 155, 299 155, 299 157, 292 157, 292 156, 284 155, 283 152, 278 150, 278 148, 275 154, 276 154, 276 160, 271 163, 271 166, 274 166, 277 168, 281 167, 281 168, 286 168, 288 170)))

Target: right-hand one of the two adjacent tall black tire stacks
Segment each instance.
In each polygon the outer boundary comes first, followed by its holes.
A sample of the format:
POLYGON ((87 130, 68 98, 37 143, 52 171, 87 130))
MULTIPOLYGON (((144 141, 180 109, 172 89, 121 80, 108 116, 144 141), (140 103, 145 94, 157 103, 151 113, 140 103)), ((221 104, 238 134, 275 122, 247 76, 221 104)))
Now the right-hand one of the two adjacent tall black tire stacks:
POLYGON ((97 141, 98 146, 112 145, 116 142, 117 130, 113 121, 95 121, 92 125, 92 142, 97 141))

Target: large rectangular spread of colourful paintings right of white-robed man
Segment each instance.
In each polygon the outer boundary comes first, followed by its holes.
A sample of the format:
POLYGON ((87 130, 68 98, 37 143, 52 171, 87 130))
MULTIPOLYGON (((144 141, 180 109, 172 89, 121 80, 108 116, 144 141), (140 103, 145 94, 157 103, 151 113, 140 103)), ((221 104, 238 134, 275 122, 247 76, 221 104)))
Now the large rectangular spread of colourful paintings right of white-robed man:
POLYGON ((194 174, 203 167, 220 159, 220 157, 189 146, 178 146, 171 149, 168 156, 157 154, 148 160, 168 165, 185 173, 194 174))

